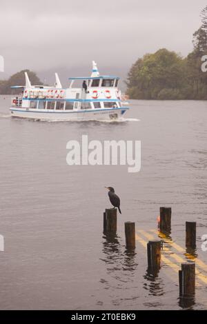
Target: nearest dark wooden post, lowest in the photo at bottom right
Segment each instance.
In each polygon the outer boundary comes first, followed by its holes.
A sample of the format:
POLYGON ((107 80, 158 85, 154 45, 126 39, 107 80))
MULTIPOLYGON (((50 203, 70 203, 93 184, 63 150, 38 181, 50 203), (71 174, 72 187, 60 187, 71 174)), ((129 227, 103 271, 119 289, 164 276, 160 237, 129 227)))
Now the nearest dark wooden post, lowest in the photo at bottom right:
POLYGON ((195 295, 195 263, 182 263, 179 270, 179 296, 193 297, 195 295))

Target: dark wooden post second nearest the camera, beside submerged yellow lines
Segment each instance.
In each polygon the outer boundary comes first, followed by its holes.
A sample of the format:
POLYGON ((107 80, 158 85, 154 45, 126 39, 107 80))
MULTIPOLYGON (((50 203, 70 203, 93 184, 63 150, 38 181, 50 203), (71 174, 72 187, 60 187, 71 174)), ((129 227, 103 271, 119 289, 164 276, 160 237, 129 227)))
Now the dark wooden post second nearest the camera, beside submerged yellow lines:
POLYGON ((147 244, 148 269, 159 270, 161 263, 161 241, 149 241, 147 244))

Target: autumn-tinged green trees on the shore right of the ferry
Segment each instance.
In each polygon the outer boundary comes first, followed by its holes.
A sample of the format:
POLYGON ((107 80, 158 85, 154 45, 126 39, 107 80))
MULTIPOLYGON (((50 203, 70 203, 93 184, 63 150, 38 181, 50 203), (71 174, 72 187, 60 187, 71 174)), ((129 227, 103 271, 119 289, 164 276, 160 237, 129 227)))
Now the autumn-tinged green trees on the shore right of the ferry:
POLYGON ((201 27, 193 34, 193 52, 183 58, 163 48, 137 59, 128 72, 130 99, 207 99, 207 72, 201 57, 207 54, 207 6, 201 11, 201 27))

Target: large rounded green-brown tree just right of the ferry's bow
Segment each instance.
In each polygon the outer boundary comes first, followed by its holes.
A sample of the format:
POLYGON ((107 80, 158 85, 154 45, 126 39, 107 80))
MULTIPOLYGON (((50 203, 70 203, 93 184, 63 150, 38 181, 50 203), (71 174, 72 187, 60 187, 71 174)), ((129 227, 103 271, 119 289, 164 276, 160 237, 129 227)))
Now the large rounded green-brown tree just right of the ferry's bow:
MULTIPOLYGON (((179 90, 183 83, 183 59, 165 48, 138 59, 132 65, 126 81, 127 93, 132 99, 168 99, 169 93, 171 99, 179 93, 174 90, 179 90), (169 91, 162 91, 168 89, 169 91)), ((179 97, 181 98, 180 93, 179 97)))

